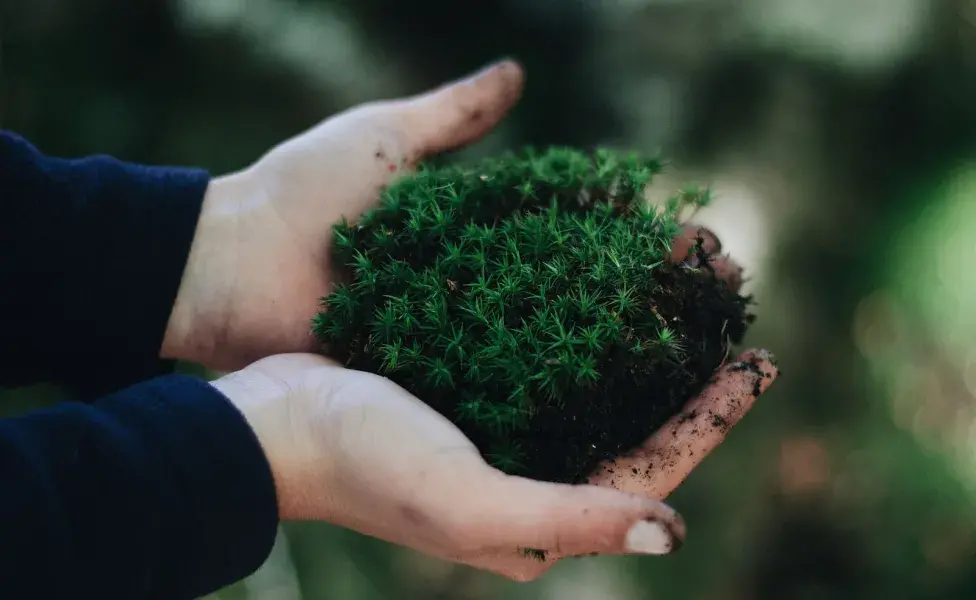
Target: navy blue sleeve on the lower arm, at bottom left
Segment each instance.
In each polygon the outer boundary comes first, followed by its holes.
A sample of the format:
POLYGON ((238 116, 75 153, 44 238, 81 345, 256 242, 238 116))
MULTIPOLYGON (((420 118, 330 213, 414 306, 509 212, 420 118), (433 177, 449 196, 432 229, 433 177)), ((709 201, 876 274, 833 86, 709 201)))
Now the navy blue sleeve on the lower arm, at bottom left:
POLYGON ((243 416, 168 375, 0 419, 0 597, 181 600, 254 571, 274 482, 243 416))

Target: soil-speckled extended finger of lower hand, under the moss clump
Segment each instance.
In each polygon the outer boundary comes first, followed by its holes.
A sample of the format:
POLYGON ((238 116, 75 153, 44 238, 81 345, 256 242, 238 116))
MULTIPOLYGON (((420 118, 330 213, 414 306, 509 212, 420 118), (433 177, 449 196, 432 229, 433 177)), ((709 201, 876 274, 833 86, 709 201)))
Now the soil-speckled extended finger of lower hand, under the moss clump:
POLYGON ((778 375, 769 352, 742 354, 720 369, 712 383, 640 449, 604 465, 589 483, 666 498, 725 440, 778 375))

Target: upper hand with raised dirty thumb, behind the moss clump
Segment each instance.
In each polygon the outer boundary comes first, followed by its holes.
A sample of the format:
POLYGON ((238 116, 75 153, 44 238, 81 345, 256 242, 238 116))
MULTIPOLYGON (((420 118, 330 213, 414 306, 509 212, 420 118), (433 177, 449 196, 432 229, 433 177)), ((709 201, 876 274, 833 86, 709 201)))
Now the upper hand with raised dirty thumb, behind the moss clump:
POLYGON ((332 285, 332 227, 419 161, 483 137, 522 84, 521 67, 506 61, 427 94, 364 104, 214 179, 161 356, 229 371, 314 351, 310 323, 332 285))

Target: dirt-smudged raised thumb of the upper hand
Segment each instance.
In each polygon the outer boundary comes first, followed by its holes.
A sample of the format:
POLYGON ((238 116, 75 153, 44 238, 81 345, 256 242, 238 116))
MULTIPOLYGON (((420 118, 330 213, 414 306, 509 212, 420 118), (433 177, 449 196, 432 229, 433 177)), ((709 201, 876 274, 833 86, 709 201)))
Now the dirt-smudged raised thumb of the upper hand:
POLYGON ((521 65, 504 60, 406 100, 404 131, 413 162, 482 138, 518 102, 524 81, 521 65))

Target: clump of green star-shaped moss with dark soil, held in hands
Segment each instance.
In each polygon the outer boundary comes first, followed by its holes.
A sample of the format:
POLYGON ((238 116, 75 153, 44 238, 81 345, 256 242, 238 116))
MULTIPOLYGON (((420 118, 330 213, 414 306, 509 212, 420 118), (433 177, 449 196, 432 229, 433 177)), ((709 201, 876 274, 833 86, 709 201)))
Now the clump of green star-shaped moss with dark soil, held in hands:
POLYGON ((335 228, 323 352, 416 395, 505 472, 585 480, 677 414, 751 321, 707 261, 666 259, 709 196, 651 207, 661 168, 552 148, 397 181, 335 228))

